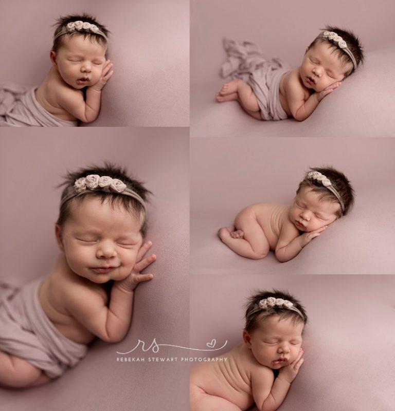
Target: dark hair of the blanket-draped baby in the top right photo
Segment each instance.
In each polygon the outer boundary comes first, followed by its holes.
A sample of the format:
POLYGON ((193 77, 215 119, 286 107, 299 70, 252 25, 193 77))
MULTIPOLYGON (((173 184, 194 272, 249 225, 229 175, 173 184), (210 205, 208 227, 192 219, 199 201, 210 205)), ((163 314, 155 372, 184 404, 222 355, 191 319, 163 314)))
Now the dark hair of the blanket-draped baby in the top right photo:
MULTIPOLYGON (((326 26, 325 29, 321 30, 334 31, 347 43, 347 48, 351 51, 352 55, 354 56, 356 65, 358 66, 360 63, 364 63, 365 56, 361 41, 352 31, 340 29, 335 26, 326 26)), ((332 52, 337 54, 337 57, 344 65, 348 63, 352 65, 352 68, 345 74, 344 78, 350 76, 354 72, 354 65, 352 64, 350 56, 346 52, 342 51, 341 48, 339 48, 335 43, 333 43, 330 40, 323 39, 320 37, 316 38, 307 49, 309 50, 317 43, 327 43, 332 49, 332 52)))

